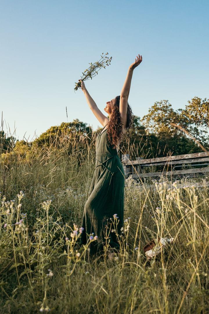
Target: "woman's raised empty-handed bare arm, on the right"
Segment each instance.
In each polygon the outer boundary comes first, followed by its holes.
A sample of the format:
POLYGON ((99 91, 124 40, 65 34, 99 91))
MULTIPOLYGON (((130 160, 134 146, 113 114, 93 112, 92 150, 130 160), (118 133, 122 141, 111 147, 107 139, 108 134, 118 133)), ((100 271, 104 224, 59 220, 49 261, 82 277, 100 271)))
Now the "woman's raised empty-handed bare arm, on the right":
POLYGON ((119 111, 120 111, 120 116, 123 122, 123 131, 125 131, 125 128, 126 128, 128 96, 129 96, 130 87, 131 87, 131 79, 133 76, 133 70, 142 62, 142 56, 139 55, 139 57, 138 56, 136 57, 137 59, 135 58, 135 62, 133 62, 128 68, 128 73, 125 79, 125 83, 123 84, 123 88, 120 93, 119 111))

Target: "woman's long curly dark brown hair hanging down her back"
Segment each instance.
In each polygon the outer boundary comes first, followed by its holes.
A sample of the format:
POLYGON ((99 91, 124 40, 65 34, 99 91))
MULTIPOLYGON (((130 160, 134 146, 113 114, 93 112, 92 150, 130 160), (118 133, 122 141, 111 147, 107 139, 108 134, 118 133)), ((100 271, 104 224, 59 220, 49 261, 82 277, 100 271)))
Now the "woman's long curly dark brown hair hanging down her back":
MULTIPOLYGON (((118 141, 122 142, 123 139, 123 123, 121 122, 121 115, 119 112, 119 105, 120 105, 120 96, 115 97, 115 104, 113 107, 112 115, 110 118, 110 121, 107 123, 107 136, 109 143, 112 144, 112 148, 116 149, 116 145, 118 141)), ((130 105, 127 106, 127 121, 126 121, 126 132, 129 131, 129 129, 132 127, 133 124, 133 112, 131 110, 130 105)), ((120 149, 120 145, 119 145, 120 149)))

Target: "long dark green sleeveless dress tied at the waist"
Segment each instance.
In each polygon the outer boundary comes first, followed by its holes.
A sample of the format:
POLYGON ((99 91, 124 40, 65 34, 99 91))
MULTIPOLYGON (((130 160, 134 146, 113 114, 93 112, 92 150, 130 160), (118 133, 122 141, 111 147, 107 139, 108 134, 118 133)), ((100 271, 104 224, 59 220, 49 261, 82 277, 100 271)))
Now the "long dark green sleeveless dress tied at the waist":
POLYGON ((110 224, 110 218, 114 221, 114 214, 117 214, 119 221, 118 235, 121 234, 123 227, 125 173, 117 149, 113 149, 108 141, 107 129, 102 131, 96 139, 95 171, 82 218, 84 230, 81 234, 81 243, 86 244, 91 235, 98 237, 96 241, 90 243, 91 255, 102 253, 103 245, 109 240, 111 248, 119 251, 117 236, 111 231, 114 227, 110 224), (108 228, 105 225, 108 225, 108 228), (105 233, 109 237, 107 240, 105 233))

